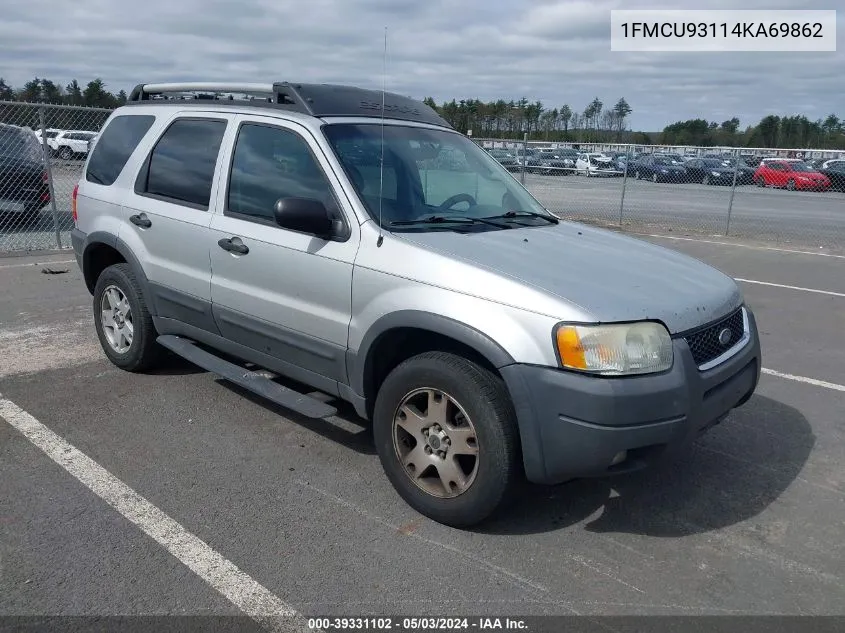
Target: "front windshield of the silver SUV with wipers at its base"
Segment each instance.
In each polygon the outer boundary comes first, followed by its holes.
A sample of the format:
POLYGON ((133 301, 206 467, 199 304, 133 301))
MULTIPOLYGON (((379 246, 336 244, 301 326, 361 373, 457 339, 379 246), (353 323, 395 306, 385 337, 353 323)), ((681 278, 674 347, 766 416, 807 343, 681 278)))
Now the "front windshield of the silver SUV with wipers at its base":
MULTIPOLYGON (((456 132, 385 125, 382 170, 381 125, 337 123, 323 130, 376 222, 381 208, 381 224, 385 228, 393 230, 391 223, 432 216, 466 219, 527 211, 554 217, 495 158, 456 132)), ((538 218, 519 220, 529 225, 548 224, 538 218)), ((433 225, 403 227, 405 230, 435 228, 433 225)))

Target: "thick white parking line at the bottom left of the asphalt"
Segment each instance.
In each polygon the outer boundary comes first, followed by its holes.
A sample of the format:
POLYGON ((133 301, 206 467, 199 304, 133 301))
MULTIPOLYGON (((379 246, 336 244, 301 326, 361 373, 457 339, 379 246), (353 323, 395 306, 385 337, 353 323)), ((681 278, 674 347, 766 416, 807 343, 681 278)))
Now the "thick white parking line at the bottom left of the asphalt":
POLYGON ((2 396, 0 417, 256 622, 272 631, 285 633, 309 630, 302 617, 278 596, 2 396))

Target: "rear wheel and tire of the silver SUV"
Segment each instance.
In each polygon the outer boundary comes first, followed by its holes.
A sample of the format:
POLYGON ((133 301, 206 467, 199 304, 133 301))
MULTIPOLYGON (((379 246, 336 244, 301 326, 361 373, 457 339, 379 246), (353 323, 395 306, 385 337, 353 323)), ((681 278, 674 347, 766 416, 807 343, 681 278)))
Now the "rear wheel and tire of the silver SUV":
POLYGON ((97 337, 106 357, 114 365, 130 372, 143 372, 158 364, 164 355, 164 349, 156 342, 157 332, 141 292, 141 285, 128 264, 109 266, 100 274, 94 287, 93 308, 97 337), (107 291, 112 301, 106 297, 107 291), (104 323, 106 317, 103 315, 103 306, 110 308, 115 305, 114 300, 120 299, 121 296, 126 299, 128 312, 125 312, 123 302, 119 301, 119 310, 122 309, 124 314, 118 319, 118 315, 112 313, 112 322, 117 328, 115 331, 104 323), (118 327, 121 322, 124 323, 122 328, 118 327), (126 323, 131 323, 132 326, 128 345, 126 323), (113 341, 118 331, 123 332, 123 336, 118 337, 117 341, 122 345, 115 346, 113 341), (110 336, 110 332, 114 333, 110 336))

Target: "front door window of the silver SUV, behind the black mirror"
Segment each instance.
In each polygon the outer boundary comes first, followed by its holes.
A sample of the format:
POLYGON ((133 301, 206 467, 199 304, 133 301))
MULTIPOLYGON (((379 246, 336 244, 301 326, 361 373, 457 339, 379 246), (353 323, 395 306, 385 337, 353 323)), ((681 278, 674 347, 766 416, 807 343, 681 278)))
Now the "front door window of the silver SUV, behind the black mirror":
POLYGON ((339 209, 331 183, 301 136, 245 123, 235 142, 226 212, 273 221, 276 201, 289 197, 319 200, 330 211, 339 209))

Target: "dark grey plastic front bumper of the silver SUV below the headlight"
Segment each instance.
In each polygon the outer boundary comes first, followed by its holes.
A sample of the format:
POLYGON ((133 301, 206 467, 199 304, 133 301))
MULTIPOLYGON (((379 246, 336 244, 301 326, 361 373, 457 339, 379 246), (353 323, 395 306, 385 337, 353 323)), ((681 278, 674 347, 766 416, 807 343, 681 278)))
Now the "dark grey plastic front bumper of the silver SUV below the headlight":
POLYGON ((747 313, 748 342, 705 371, 683 339, 674 340, 672 368, 648 376, 601 378, 521 364, 502 368, 529 481, 555 484, 638 470, 744 404, 761 367, 756 322, 747 313), (624 459, 614 463, 623 452, 624 459))

